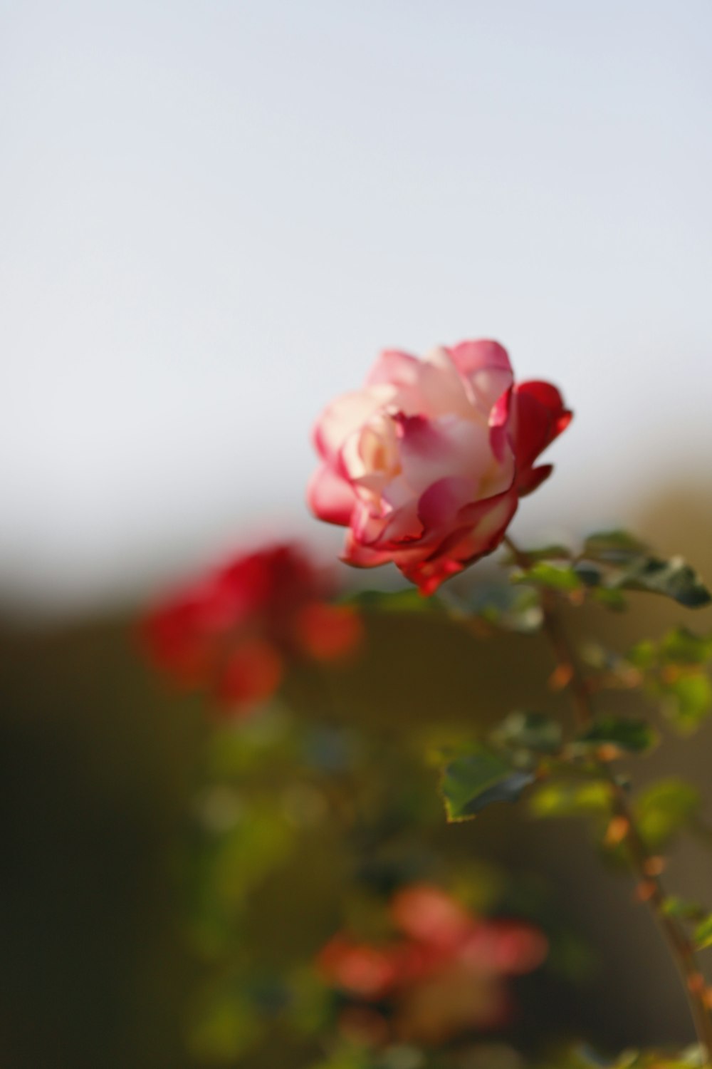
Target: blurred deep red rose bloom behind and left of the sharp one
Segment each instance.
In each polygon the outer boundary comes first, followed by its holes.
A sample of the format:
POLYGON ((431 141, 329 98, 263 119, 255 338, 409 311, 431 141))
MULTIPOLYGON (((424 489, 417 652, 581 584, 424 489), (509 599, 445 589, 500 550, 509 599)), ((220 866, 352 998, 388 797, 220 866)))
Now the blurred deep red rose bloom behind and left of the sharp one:
POLYGON ((330 605, 332 584, 302 551, 273 545, 235 557, 169 595, 142 624, 154 662, 222 708, 249 710, 278 688, 290 659, 348 654, 361 622, 330 605))

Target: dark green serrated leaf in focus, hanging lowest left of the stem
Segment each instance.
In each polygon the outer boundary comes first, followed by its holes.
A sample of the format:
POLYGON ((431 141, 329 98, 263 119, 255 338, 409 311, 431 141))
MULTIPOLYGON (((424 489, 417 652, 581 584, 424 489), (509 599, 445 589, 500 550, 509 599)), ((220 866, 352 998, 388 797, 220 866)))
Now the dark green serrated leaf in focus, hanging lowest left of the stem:
POLYGON ((441 791, 449 821, 469 820, 494 802, 516 802, 535 774, 484 745, 445 765, 441 791))

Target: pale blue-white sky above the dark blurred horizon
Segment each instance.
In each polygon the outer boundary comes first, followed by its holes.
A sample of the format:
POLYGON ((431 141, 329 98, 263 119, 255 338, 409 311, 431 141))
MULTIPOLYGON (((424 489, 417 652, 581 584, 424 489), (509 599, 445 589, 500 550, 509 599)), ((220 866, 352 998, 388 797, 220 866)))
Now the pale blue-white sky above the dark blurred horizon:
POLYGON ((712 492, 709 0, 0 0, 0 597, 316 534, 320 408, 493 337, 528 532, 712 492))

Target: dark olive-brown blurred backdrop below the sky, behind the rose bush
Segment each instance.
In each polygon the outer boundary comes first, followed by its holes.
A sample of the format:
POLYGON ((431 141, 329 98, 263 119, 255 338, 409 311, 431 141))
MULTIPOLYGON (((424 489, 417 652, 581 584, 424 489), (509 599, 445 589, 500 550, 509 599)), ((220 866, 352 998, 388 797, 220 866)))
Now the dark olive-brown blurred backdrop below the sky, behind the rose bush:
MULTIPOLYGON (((712 574, 709 502, 668 494, 638 532, 712 574)), ((379 573, 374 575, 378 585, 379 573)), ((624 648, 684 620, 637 597, 626 616, 569 611, 574 633, 624 648)), ((365 661, 329 680, 329 716, 392 744, 424 725, 495 721, 541 707, 550 654, 540 637, 474 641, 433 618, 383 618, 365 661)), ((287 697, 308 704, 292 679, 287 697)), ((62 623, 5 619, 0 632, 0 1064, 6 1069, 179 1069, 196 965, 180 927, 176 857, 209 731, 200 701, 178 698, 141 656, 136 616, 62 623)), ((621 699, 617 699, 621 700, 621 699)), ((636 699, 623 699, 636 700, 636 699)), ((319 718, 318 702, 301 710, 319 718)), ((687 775, 710 795, 709 727, 667 735, 636 776, 687 775)), ((579 822, 536 824, 497 807, 473 824, 443 823, 442 849, 490 856, 545 878, 561 914, 594 950, 580 990, 541 1007, 554 1031, 575 1026, 603 1047, 692 1038, 681 990, 627 878, 606 872, 579 822)), ((323 861, 323 858, 322 858, 323 861)), ((328 938, 319 879, 297 857, 253 903, 266 957, 289 939, 328 938), (321 904, 320 904, 321 903, 321 904)), ((676 851, 666 882, 710 900, 712 855, 676 851)), ((281 1058, 289 1065, 289 1051, 281 1058)), ((263 1063, 246 1057, 251 1066, 263 1063)))

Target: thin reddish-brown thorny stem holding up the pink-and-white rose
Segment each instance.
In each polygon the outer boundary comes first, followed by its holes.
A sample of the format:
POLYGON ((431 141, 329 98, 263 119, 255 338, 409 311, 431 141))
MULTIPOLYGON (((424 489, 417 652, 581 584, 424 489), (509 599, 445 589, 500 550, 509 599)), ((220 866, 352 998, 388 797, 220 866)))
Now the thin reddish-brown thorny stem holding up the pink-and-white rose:
MULTIPOLYGON (((507 537, 505 542, 518 564, 522 568, 531 567, 527 555, 519 549, 510 538, 507 537)), ((569 690, 576 721, 582 726, 589 724, 594 718, 590 693, 561 625, 556 595, 551 590, 543 591, 542 610, 543 630, 554 652, 559 676, 566 681, 569 690)), ((637 897, 648 904, 667 942, 685 989, 697 1039, 702 1048, 705 1065, 712 1066, 712 1017, 708 1003, 709 993, 693 944, 675 917, 665 912, 667 895, 660 879, 662 861, 650 854, 642 839, 633 820, 626 790, 613 774, 610 764, 606 761, 599 761, 598 766, 611 786, 614 822, 617 822, 619 841, 627 843, 631 865, 639 881, 637 897)))

